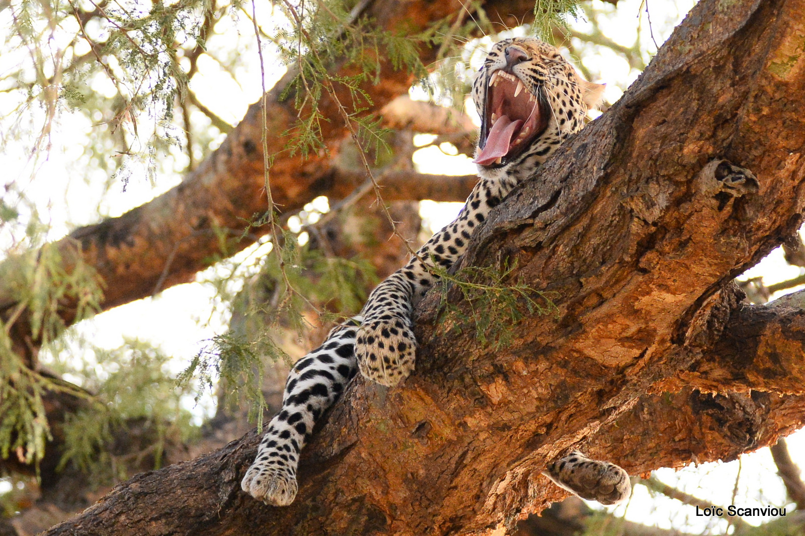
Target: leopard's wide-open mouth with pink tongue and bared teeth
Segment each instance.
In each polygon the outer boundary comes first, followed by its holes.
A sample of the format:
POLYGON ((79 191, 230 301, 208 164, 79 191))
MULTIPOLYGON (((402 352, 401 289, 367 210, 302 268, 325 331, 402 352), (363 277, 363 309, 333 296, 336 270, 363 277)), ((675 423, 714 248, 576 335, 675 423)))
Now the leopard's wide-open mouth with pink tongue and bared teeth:
POLYGON ((506 165, 526 150, 548 126, 546 99, 534 95, 510 72, 497 69, 486 85, 481 119, 481 151, 473 160, 481 166, 506 165))

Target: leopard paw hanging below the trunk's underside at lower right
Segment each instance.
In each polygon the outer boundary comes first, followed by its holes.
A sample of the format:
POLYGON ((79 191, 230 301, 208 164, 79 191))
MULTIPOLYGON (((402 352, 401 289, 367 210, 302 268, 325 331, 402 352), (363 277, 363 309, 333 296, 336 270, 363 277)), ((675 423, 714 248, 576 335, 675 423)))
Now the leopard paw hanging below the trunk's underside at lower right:
POLYGON ((602 505, 625 501, 632 492, 629 475, 623 469, 609 462, 590 460, 580 451, 555 460, 544 474, 559 487, 602 505))

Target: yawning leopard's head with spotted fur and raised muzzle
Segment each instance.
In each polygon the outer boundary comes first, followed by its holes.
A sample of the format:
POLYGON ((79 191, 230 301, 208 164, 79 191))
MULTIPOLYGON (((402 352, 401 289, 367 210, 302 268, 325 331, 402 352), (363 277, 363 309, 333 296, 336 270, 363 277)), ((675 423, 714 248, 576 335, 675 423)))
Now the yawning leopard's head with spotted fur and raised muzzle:
POLYGON ((484 178, 525 179, 601 100, 604 85, 584 80, 555 47, 534 38, 492 47, 473 80, 481 115, 476 156, 484 178))

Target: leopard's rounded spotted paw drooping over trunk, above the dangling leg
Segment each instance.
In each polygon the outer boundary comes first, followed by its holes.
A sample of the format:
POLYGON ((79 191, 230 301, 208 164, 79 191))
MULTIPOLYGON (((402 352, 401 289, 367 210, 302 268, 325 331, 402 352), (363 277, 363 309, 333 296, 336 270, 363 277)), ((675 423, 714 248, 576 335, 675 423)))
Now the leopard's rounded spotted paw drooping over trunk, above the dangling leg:
POLYGON ((358 329, 355 357, 364 377, 393 387, 414 370, 416 337, 405 320, 369 321, 358 329))

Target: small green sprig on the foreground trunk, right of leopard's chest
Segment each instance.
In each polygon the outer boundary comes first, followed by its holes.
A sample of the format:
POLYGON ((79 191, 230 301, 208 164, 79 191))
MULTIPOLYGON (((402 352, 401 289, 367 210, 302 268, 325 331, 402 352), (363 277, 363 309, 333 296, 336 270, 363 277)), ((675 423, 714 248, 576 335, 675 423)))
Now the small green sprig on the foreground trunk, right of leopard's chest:
POLYGON ((436 266, 431 271, 440 276, 440 307, 444 307, 447 313, 440 316, 440 321, 449 321, 459 332, 462 326, 473 326, 477 340, 495 351, 511 344, 512 327, 523 317, 557 315, 559 312, 547 293, 507 281, 514 265, 503 266, 502 270, 491 266, 467 266, 450 274, 435 262, 433 264, 436 266), (449 299, 448 292, 453 289, 460 293, 460 300, 449 299))

